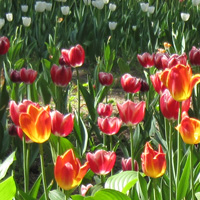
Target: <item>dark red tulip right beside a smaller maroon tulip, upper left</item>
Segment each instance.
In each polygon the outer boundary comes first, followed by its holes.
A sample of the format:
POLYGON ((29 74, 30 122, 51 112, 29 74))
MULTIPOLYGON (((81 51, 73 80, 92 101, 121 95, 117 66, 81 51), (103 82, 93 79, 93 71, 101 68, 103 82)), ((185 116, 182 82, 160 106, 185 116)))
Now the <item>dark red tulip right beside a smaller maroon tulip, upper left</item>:
POLYGON ((32 69, 20 69, 20 78, 26 84, 32 84, 37 77, 37 71, 32 69))

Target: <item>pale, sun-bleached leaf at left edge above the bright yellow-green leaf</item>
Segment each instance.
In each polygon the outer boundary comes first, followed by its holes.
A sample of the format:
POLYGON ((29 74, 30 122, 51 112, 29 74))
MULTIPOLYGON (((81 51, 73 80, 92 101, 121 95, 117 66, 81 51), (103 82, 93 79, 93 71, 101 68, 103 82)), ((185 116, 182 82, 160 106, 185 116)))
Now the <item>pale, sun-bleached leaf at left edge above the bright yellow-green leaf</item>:
POLYGON ((0 180, 5 177, 8 168, 12 165, 14 160, 16 160, 15 151, 11 153, 2 164, 0 164, 0 180))

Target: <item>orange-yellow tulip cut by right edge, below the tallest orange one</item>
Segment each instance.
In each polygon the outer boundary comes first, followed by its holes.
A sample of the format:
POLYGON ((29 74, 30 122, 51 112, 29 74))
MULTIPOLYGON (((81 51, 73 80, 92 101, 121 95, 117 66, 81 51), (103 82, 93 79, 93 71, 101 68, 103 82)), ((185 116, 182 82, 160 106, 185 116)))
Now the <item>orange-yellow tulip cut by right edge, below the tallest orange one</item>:
POLYGON ((176 129, 186 144, 200 143, 200 120, 190 118, 187 112, 182 113, 181 124, 176 129))

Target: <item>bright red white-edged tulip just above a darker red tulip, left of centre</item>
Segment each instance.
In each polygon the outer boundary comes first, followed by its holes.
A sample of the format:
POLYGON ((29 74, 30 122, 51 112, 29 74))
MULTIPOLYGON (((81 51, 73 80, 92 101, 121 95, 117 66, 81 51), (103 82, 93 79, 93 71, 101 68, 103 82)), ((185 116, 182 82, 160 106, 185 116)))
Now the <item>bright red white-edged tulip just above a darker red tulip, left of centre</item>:
POLYGON ((62 49, 61 54, 65 63, 71 67, 80 67, 85 60, 85 51, 80 44, 70 49, 62 49))

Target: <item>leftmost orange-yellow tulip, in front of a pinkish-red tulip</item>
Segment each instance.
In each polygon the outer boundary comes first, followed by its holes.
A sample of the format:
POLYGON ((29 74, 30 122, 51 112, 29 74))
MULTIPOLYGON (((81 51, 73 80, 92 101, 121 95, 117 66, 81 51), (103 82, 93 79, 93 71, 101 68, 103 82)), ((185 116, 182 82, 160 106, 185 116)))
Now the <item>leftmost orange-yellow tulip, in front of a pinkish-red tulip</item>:
POLYGON ((27 112, 19 116, 19 124, 23 132, 36 143, 47 141, 51 134, 51 117, 49 106, 37 108, 29 105, 27 112))

